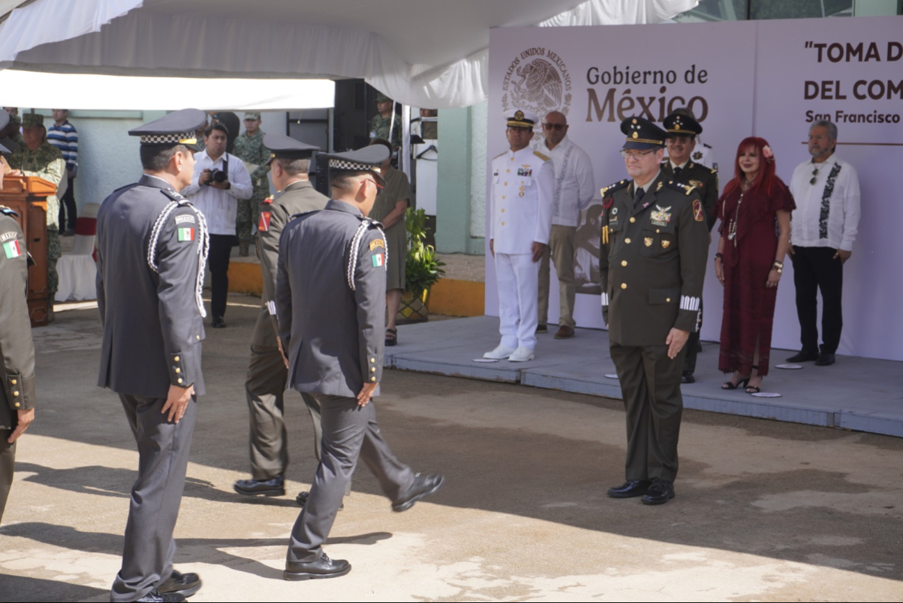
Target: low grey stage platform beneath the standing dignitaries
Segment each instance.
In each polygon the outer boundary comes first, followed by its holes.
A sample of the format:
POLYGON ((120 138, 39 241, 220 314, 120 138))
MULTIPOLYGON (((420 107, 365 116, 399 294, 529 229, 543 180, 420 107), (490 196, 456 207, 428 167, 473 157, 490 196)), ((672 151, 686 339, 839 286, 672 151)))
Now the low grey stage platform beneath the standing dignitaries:
MULTIPOLYGON (((554 339, 554 328, 538 336, 531 362, 478 363, 498 345, 498 319, 489 316, 436 320, 398 329, 399 344, 386 348, 386 366, 400 370, 519 383, 577 394, 620 398, 609 355, 608 332, 577 329, 573 339, 554 339)), ((795 350, 772 350, 764 392, 759 398, 743 390, 725 391, 718 371, 718 344, 703 342, 696 383, 683 385, 684 406, 714 413, 824 425, 903 437, 903 363, 861 357, 838 357, 833 366, 805 363, 782 370, 795 350)))

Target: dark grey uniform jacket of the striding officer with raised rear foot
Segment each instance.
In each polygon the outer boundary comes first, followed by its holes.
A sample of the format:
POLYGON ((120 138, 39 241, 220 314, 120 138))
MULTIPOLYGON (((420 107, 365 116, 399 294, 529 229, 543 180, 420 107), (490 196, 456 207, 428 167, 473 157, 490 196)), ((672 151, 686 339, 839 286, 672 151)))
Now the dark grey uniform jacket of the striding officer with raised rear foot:
POLYGON ((276 313, 294 389, 356 396, 365 382, 378 383, 386 341, 379 223, 335 199, 289 222, 279 243, 276 313))

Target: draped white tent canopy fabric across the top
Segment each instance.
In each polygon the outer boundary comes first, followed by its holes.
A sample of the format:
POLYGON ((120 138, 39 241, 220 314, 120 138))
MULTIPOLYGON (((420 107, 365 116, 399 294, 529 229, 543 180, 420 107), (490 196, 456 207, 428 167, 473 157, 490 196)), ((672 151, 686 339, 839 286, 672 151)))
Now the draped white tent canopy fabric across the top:
POLYGON ((0 68, 183 78, 363 78, 406 105, 468 107, 487 98, 493 26, 658 23, 696 4, 391 0, 378 4, 391 7, 390 14, 361 15, 360 4, 349 0, 325 7, 282 0, 36 0, 0 24, 0 68), (42 17, 59 10, 69 10, 69 18, 42 17), (7 39, 7 32, 14 39, 7 39), (422 56, 433 64, 418 62, 422 56))

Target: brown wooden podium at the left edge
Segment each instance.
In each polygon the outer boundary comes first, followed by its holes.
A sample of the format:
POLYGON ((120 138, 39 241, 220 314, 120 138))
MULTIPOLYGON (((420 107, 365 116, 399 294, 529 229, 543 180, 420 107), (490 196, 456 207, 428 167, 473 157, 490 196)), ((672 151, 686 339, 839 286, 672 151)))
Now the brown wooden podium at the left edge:
POLYGON ((36 176, 5 175, 0 205, 19 214, 25 248, 34 265, 28 269, 28 314, 33 327, 42 327, 50 318, 47 289, 47 198, 56 193, 52 182, 36 176))

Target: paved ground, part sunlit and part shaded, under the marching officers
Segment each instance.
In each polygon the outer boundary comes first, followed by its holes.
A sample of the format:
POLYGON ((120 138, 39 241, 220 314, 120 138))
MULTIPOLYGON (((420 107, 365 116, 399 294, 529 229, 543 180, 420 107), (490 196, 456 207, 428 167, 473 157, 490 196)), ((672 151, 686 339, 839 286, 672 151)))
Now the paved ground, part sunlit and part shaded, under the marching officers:
MULTIPOLYGON (((314 470, 289 394, 290 496, 248 500, 243 379, 256 298, 232 296, 209 329, 178 567, 193 601, 895 600, 903 598, 903 441, 687 412, 677 497, 612 500, 625 445, 619 401, 388 371, 377 401, 400 459, 448 478, 394 514, 366 468, 327 552, 337 580, 281 580, 294 494, 314 470)), ((108 600, 134 442, 94 383, 96 311, 36 329, 40 407, 21 442, 0 528, 0 600, 108 600)))

